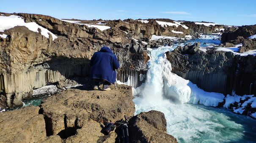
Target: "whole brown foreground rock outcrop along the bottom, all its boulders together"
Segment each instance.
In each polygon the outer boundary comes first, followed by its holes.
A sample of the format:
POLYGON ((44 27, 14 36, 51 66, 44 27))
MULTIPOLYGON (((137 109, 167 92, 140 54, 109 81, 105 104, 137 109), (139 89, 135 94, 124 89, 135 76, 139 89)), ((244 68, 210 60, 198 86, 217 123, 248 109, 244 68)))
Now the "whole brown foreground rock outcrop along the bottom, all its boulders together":
POLYGON ((160 140, 177 143, 166 133, 164 114, 149 111, 133 117, 134 112, 132 87, 118 85, 118 90, 91 91, 82 86, 46 98, 40 108, 28 106, 0 113, 0 140, 4 143, 119 143, 118 127, 109 135, 104 135, 102 128, 104 122, 116 122, 126 115, 132 143, 160 140))

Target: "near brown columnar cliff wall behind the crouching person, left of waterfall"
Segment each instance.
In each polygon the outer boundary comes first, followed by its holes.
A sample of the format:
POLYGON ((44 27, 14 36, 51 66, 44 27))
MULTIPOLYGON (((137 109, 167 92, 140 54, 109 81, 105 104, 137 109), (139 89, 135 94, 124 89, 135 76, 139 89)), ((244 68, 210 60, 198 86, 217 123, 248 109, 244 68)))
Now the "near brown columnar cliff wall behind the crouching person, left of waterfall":
POLYGON ((22 98, 28 97, 31 90, 48 83, 87 76, 91 56, 106 43, 118 57, 119 71, 128 70, 137 75, 136 72, 146 70, 149 57, 143 45, 119 29, 101 31, 37 14, 11 15, 21 16, 27 23, 35 22, 58 38, 44 37, 25 26, 4 31, 7 37, 0 38, 0 101, 4 106, 22 105, 22 98))

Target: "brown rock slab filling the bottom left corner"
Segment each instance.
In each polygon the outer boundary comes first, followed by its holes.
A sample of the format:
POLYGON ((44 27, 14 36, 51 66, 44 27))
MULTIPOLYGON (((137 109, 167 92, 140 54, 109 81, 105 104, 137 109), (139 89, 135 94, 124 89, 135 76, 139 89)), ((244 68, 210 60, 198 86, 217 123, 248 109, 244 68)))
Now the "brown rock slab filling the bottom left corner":
POLYGON ((46 138, 44 116, 39 107, 28 106, 0 113, 1 143, 34 143, 46 138))

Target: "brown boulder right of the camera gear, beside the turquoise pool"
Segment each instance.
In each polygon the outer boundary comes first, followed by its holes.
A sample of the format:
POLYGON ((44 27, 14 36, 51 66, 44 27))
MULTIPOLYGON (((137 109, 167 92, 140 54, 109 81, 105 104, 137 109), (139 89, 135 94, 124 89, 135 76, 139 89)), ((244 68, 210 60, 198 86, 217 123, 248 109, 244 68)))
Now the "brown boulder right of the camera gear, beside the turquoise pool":
POLYGON ((129 141, 132 143, 177 143, 166 133, 165 115, 159 111, 142 112, 129 120, 129 141))

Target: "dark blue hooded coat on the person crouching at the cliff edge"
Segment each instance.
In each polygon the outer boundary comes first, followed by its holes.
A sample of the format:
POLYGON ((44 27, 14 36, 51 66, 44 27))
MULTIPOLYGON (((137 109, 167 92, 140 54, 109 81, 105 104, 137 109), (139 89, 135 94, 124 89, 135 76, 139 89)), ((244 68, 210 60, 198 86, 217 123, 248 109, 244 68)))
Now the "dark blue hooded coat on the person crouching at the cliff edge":
POLYGON ((91 57, 90 66, 90 78, 105 79, 110 83, 115 83, 119 63, 110 48, 102 47, 100 51, 95 52, 91 57))

